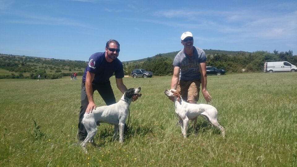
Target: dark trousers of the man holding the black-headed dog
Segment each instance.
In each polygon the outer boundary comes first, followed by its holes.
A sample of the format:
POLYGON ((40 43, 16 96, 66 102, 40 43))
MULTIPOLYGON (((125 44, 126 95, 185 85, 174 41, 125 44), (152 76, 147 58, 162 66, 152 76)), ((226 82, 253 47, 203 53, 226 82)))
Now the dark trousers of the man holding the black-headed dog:
MULTIPOLYGON (((110 81, 106 83, 100 83, 100 84, 93 84, 92 83, 92 88, 93 88, 93 94, 95 90, 98 91, 106 105, 111 105, 116 103, 115 97, 114 97, 114 92, 112 91, 110 81)), ((80 115, 79 115, 79 123, 78 123, 78 129, 79 129, 79 136, 78 138, 80 140, 84 140, 88 133, 84 127, 84 125, 81 123, 82 119, 84 118, 84 113, 88 107, 88 97, 86 93, 86 86, 85 82, 82 81, 81 83, 81 106, 80 106, 80 115)))

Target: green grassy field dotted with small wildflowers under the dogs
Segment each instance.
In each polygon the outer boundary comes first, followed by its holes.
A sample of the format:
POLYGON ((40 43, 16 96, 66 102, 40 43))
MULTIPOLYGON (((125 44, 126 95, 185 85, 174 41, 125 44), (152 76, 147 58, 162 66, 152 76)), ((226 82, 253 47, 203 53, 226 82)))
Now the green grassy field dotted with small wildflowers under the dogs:
MULTIPOLYGON (((173 102, 164 90, 170 76, 124 78, 141 87, 130 106, 124 143, 112 142, 113 126, 101 124, 85 154, 75 139, 80 81, 0 79, 0 166, 296 166, 297 73, 208 76, 209 104, 220 131, 199 117, 183 139, 173 102)), ((122 94, 111 78, 116 99, 122 94)), ((95 92, 97 106, 104 105, 95 92)), ((205 103, 200 93, 199 103, 205 103)))

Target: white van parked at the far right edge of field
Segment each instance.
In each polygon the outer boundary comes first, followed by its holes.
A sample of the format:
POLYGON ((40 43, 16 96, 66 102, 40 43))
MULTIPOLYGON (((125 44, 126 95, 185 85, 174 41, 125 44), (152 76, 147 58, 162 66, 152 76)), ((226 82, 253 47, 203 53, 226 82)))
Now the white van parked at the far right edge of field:
POLYGON ((289 62, 265 62, 264 72, 295 72, 297 67, 289 62))

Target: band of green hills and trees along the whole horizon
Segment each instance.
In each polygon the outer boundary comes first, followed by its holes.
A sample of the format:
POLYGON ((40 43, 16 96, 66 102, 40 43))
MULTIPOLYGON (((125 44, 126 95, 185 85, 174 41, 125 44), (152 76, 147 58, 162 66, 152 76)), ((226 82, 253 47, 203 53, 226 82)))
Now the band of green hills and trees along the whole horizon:
MULTIPOLYGON (((123 62, 123 70, 125 75, 130 75, 133 69, 146 69, 152 71, 153 75, 165 76, 173 74, 173 59, 177 52, 166 54, 157 54, 151 58, 123 62)), ((222 68, 227 73, 239 73, 243 71, 260 72, 263 71, 265 62, 287 61, 293 65, 297 65, 297 56, 293 55, 293 51, 279 52, 274 50, 273 53, 268 51, 237 52, 234 51, 223 52, 220 50, 207 50, 207 66, 215 66, 222 68), (213 53, 211 53, 213 51, 213 53), (227 54, 232 53, 232 54, 227 54), (244 69, 244 70, 243 70, 244 69)), ((0 68, 10 72, 18 73, 18 75, 11 73, 11 75, 0 75, 0 79, 7 78, 28 78, 36 79, 38 75, 46 76, 48 79, 58 79, 62 76, 70 76, 71 71, 77 71, 77 75, 83 75, 84 68, 88 62, 71 61, 61 59, 46 59, 34 58, 27 56, 14 56, 0 54, 0 68), (46 70, 50 70, 47 73, 46 70), (69 72, 62 72, 66 70, 69 72), (24 76, 23 73, 29 73, 24 76)))

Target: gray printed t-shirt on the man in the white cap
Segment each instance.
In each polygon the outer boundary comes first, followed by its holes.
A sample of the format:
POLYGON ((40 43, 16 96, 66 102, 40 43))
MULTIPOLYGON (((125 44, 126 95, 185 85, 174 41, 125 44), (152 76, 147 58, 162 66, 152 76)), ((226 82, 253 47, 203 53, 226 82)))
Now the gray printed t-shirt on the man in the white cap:
POLYGON ((202 49, 195 48, 193 56, 188 56, 184 52, 184 49, 182 49, 173 60, 173 66, 178 66, 180 68, 179 79, 182 81, 201 79, 199 63, 205 62, 206 56, 202 49))

